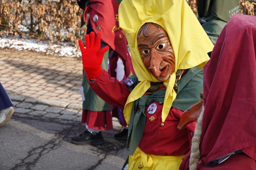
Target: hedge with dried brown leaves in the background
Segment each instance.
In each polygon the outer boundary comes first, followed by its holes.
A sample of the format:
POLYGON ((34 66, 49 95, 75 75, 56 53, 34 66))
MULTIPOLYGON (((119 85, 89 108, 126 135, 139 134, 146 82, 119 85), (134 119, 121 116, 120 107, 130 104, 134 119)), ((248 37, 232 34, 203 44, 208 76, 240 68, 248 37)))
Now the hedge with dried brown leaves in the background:
MULTIPOLYGON (((197 13, 196 0, 187 0, 197 13)), ((256 0, 239 0, 242 14, 256 16, 256 0)), ((3 34, 51 42, 73 42, 83 38, 82 10, 76 0, 0 0, 0 37, 3 34)))

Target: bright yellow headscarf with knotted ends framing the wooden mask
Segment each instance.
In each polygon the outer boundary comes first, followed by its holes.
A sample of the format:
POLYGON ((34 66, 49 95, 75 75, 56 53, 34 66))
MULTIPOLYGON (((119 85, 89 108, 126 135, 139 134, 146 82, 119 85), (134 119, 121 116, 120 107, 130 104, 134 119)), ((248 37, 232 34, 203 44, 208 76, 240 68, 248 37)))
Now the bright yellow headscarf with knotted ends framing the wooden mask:
POLYGON ((123 0, 119 6, 119 25, 125 31, 133 68, 141 81, 132 90, 125 104, 124 117, 127 124, 130 122, 134 101, 150 88, 151 82, 159 82, 147 71, 137 47, 137 33, 147 22, 156 23, 165 29, 175 56, 174 73, 164 82, 167 89, 162 122, 165 121, 176 98, 173 86, 177 70, 195 66, 202 68, 210 59, 207 53, 212 51, 214 46, 185 0, 123 0))

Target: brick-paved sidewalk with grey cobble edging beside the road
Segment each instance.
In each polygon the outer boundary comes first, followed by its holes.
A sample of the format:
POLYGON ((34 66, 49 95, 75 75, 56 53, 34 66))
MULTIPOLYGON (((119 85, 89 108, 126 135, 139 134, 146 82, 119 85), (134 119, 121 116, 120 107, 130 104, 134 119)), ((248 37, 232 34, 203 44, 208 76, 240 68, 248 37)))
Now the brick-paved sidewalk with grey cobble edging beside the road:
POLYGON ((0 82, 17 113, 81 121, 81 60, 1 50, 0 82))

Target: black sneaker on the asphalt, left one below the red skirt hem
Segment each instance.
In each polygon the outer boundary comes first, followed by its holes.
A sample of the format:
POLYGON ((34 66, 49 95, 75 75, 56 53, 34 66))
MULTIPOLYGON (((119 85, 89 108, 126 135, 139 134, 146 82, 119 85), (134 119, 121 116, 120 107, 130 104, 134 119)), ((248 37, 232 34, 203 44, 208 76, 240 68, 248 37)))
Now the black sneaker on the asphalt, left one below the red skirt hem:
POLYGON ((96 135, 92 135, 92 133, 86 130, 79 136, 71 138, 71 142, 77 145, 102 145, 104 143, 104 139, 101 132, 96 135))

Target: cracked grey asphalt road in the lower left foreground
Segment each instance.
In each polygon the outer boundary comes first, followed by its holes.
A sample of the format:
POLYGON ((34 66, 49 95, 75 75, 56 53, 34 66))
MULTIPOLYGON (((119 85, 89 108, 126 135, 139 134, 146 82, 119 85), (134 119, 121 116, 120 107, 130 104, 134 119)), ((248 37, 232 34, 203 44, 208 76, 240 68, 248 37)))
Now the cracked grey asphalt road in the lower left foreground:
POLYGON ((120 170, 128 150, 113 138, 118 130, 103 131, 100 146, 72 144, 84 129, 77 121, 14 112, 0 127, 0 169, 120 170))

